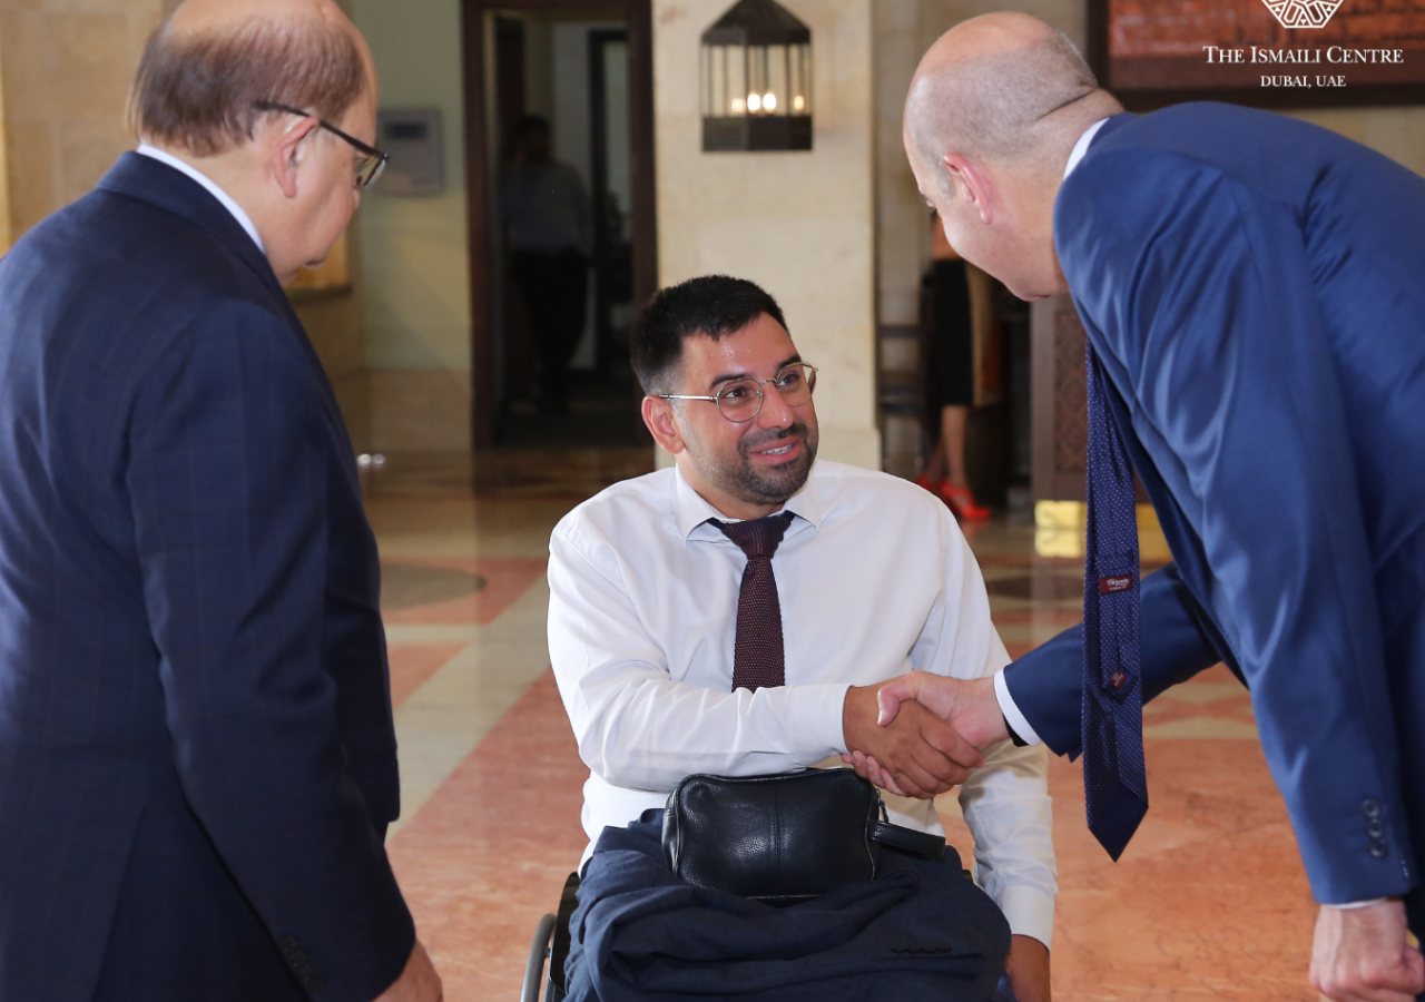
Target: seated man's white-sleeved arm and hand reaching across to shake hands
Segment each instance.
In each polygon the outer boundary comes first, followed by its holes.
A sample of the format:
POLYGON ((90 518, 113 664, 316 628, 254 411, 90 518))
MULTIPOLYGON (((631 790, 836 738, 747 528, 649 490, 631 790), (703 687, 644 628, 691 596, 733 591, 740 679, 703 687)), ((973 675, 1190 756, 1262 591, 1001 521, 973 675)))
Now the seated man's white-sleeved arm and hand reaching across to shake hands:
MULTIPOLYGON (((606 783, 667 791, 694 773, 757 775, 814 765, 846 748, 848 728, 874 733, 875 690, 848 684, 714 691, 677 683, 648 634, 607 553, 586 553, 556 529, 549 563, 549 650, 564 710, 584 763, 606 783), (848 697, 848 690, 852 694, 848 697)), ((731 624, 730 624, 731 627, 731 624)), ((916 741, 929 735, 969 761, 969 748, 928 714, 906 721, 892 758, 933 795, 963 778, 963 768, 916 741), (939 757, 939 761, 936 761, 939 757)), ((889 747, 889 745, 885 745, 889 747)), ((912 780, 913 783, 913 780, 912 780)))

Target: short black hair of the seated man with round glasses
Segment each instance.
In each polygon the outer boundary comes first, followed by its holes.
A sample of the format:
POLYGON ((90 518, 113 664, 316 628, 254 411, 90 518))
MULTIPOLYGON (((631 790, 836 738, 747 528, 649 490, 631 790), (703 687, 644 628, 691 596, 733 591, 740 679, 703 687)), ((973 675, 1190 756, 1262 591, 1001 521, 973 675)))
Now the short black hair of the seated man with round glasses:
POLYGON ((694 335, 721 341, 767 314, 787 329, 777 299, 755 282, 701 275, 658 292, 638 315, 628 342, 633 371, 648 395, 674 392, 683 342, 694 335))

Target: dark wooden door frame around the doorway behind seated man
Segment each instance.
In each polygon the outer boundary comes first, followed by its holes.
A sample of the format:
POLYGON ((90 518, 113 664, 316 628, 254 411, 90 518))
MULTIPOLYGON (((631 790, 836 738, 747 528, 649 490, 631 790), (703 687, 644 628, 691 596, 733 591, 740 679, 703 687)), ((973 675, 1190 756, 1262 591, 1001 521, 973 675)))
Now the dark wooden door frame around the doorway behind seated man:
POLYGON ((651 0, 462 0, 465 76, 465 171, 470 241, 470 430, 476 450, 494 445, 494 274, 490 261, 490 182, 486 157, 494 128, 486 114, 486 19, 502 10, 610 11, 628 30, 628 141, 633 147, 633 294, 644 302, 658 288, 653 147, 653 3, 651 0))

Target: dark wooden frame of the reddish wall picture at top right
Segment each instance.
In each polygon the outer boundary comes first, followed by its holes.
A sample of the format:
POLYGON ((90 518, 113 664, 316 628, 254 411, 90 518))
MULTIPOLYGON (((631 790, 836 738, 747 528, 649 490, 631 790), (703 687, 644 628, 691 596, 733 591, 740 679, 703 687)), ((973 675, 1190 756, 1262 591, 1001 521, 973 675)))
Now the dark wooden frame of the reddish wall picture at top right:
MULTIPOLYGON (((1109 66, 1109 0, 1089 0, 1086 57, 1099 83, 1113 91, 1129 111, 1153 111, 1181 101, 1227 101, 1255 108, 1340 108, 1382 104, 1425 104, 1425 74, 1419 83, 1355 84, 1340 90, 1265 87, 1123 88, 1114 86, 1109 66)), ((1418 50, 1416 50, 1418 51, 1418 50)), ((1425 66, 1425 51, 1418 58, 1425 66)), ((1324 67, 1322 67, 1324 68, 1324 67)), ((1322 70, 1315 70, 1321 73, 1322 70)), ((1301 73, 1290 67, 1277 74, 1301 73)), ((1312 73, 1308 70, 1307 73, 1312 73)))

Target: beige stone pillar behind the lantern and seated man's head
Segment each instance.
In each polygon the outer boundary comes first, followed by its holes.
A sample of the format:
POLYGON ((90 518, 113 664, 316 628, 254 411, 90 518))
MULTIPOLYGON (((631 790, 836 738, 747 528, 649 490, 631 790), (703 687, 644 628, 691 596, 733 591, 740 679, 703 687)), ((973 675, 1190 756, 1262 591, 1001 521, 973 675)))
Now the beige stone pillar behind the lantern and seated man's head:
POLYGON ((821 368, 821 455, 879 469, 872 0, 785 0, 811 27, 811 153, 703 153, 698 37, 728 0, 654 0, 658 282, 728 272, 781 302, 821 368))

